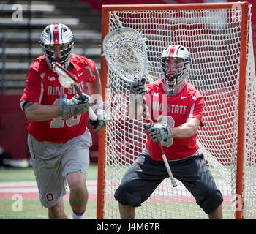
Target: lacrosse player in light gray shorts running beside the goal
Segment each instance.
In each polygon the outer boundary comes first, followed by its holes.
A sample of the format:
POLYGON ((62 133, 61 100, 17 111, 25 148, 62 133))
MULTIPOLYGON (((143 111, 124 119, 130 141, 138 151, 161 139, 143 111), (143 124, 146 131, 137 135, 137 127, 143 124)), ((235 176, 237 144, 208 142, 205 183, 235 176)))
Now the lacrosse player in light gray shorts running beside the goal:
POLYGON ((26 76, 20 107, 27 118, 28 145, 42 206, 49 219, 67 219, 63 196, 70 189, 72 219, 83 219, 88 200, 86 176, 89 167, 91 134, 87 129, 90 103, 97 121, 89 121, 97 131, 107 124, 101 100, 101 82, 94 61, 72 53, 74 37, 64 24, 53 23, 42 31, 39 43, 43 55, 34 60, 26 76), (82 99, 75 88, 64 88, 53 72, 58 62, 78 78, 82 99), (92 100, 94 99, 94 100, 92 100))

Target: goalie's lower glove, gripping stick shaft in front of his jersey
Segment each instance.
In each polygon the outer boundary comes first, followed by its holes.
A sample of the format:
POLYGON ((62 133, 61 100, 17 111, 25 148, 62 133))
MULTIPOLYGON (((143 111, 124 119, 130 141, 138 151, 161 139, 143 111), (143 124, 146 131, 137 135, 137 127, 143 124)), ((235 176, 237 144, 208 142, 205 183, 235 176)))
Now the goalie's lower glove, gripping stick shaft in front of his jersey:
POLYGON ((145 124, 144 129, 148 131, 148 135, 154 142, 167 140, 173 135, 172 129, 167 124, 145 124))

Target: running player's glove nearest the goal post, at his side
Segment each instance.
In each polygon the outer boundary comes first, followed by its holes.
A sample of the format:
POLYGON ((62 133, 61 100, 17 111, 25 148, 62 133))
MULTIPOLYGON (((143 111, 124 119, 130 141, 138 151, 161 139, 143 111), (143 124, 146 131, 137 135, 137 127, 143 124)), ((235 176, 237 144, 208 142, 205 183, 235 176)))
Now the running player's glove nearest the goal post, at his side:
POLYGON ((93 127, 92 130, 96 132, 108 124, 108 119, 105 111, 105 102, 95 100, 94 104, 91 105, 91 109, 94 110, 94 113, 97 116, 97 120, 94 121, 89 118, 88 124, 90 124, 93 127))

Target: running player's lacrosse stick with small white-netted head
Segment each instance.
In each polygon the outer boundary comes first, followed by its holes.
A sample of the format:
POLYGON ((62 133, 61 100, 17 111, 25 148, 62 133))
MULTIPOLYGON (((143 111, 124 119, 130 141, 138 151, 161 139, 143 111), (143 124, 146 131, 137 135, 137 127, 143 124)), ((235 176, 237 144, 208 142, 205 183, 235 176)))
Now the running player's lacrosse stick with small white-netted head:
MULTIPOLYGON (((61 86, 64 88, 70 88, 71 86, 74 86, 75 91, 77 91, 79 97, 84 101, 85 98, 83 97, 83 94, 77 84, 78 78, 76 78, 74 74, 69 72, 67 69, 64 69, 64 67, 62 67, 61 64, 57 62, 53 65, 53 72, 56 72, 59 75, 59 83, 61 86)), ((97 120, 97 116, 94 111, 91 110, 91 107, 89 107, 89 118, 93 121, 97 120)))

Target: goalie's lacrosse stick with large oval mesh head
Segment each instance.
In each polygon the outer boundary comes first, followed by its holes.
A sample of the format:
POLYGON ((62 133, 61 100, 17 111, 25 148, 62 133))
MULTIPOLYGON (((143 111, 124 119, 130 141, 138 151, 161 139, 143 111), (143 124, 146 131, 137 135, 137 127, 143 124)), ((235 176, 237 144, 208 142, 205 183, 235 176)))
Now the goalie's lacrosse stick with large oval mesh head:
MULTIPOLYGON (((110 69, 122 80, 132 83, 144 77, 148 64, 146 43, 135 29, 120 28, 110 31, 103 40, 103 53, 110 69)), ((145 109, 147 110, 146 105, 145 109)), ((153 121, 151 121, 152 124, 153 121)), ((173 178, 165 152, 161 143, 157 142, 157 145, 165 162, 170 181, 175 187, 177 186, 176 181, 173 178)))

